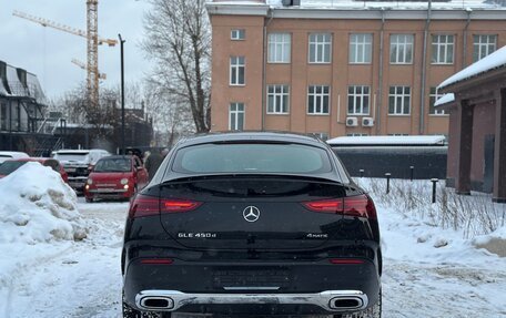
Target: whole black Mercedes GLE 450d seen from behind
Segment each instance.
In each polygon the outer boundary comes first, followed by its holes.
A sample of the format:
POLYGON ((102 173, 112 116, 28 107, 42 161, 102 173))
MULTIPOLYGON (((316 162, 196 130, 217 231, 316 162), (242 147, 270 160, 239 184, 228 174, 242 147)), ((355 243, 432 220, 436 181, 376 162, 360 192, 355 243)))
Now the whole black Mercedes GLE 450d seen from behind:
POLYGON ((381 317, 374 203, 310 136, 179 142, 131 202, 121 268, 125 318, 381 317))

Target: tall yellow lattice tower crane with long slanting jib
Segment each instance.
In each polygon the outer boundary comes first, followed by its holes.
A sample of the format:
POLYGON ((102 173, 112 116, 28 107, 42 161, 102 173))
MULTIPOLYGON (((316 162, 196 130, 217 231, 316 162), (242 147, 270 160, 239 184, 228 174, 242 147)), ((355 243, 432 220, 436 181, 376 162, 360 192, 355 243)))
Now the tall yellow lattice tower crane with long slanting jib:
POLYGON ((65 24, 57 23, 49 19, 39 18, 36 16, 27 14, 24 12, 14 11, 13 16, 36 22, 42 27, 50 27, 63 32, 79 35, 87 39, 88 64, 87 70, 87 98, 88 103, 92 107, 99 105, 99 44, 108 44, 114 47, 118 44, 117 40, 99 38, 99 19, 98 19, 99 0, 87 0, 87 31, 68 27, 65 24))

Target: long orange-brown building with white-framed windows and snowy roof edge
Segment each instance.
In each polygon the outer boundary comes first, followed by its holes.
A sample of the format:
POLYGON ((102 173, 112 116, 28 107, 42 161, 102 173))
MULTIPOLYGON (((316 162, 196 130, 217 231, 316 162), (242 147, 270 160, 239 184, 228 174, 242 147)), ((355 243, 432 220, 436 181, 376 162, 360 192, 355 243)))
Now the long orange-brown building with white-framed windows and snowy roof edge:
POLYGON ((209 2, 212 131, 447 134, 436 86, 506 44, 499 2, 209 2))

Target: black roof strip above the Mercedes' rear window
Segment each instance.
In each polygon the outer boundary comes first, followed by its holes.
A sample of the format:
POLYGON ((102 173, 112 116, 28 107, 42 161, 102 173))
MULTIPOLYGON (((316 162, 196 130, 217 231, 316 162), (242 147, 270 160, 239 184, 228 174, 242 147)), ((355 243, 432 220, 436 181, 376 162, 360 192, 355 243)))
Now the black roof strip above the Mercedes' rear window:
POLYGON ((241 132, 217 132, 208 134, 198 134, 180 141, 181 146, 196 145, 205 143, 222 143, 222 142, 283 142, 283 143, 301 143, 308 145, 323 145, 324 143, 314 135, 304 135, 289 132, 259 132, 259 131, 241 131, 241 132))

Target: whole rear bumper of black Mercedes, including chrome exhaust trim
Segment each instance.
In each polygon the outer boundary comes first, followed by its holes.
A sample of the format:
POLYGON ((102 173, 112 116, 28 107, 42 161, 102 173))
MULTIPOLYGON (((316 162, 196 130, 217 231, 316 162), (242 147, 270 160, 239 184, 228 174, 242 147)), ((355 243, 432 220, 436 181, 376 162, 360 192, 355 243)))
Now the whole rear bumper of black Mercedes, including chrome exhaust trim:
POLYGON ((140 310, 331 315, 376 304, 380 276, 367 259, 360 265, 327 259, 149 265, 136 258, 126 266, 123 288, 125 301, 140 310))

